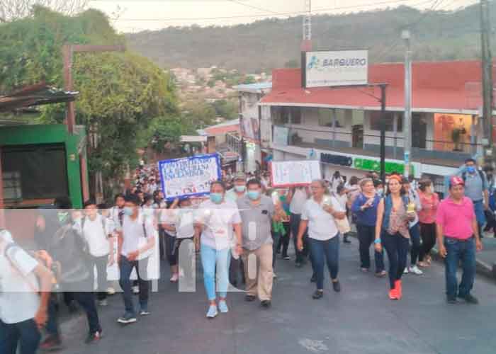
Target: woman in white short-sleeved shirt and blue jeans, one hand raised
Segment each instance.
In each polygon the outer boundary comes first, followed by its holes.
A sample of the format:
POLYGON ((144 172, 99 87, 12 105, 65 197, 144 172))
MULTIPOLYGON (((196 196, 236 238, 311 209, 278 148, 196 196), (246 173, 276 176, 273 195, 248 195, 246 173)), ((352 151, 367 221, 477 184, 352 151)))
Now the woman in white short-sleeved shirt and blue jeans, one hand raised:
POLYGON ((312 198, 303 207, 300 230, 298 231, 298 249, 303 249, 303 234, 308 227, 310 255, 312 266, 317 276, 317 290, 314 299, 320 299, 324 293, 324 258, 331 274, 332 288, 341 291, 337 278, 339 270, 339 231, 334 219, 344 219, 346 211, 327 192, 324 181, 313 181, 310 185, 312 198))

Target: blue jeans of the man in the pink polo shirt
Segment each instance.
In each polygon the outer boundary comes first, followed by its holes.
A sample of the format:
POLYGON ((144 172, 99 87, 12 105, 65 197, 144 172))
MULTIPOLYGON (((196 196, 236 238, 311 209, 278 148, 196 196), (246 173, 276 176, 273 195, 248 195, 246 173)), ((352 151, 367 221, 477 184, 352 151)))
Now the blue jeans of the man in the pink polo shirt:
POLYGON ((444 259, 444 264, 446 265, 446 296, 451 299, 456 295, 466 297, 470 294, 475 280, 475 240, 473 237, 467 241, 445 237, 444 247, 446 247, 448 253, 444 259), (458 286, 456 270, 460 261, 462 261, 463 275, 458 286))

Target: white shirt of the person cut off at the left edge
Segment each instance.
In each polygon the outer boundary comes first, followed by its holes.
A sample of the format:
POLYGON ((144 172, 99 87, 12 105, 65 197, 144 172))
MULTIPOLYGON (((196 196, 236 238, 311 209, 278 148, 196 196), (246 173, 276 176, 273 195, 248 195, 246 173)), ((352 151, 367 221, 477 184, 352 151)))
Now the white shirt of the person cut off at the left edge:
MULTIPOLYGON (((9 234, 2 231, 0 238, 4 233, 9 234)), ((33 319, 38 311, 39 285, 33 272, 37 266, 38 261, 21 247, 0 241, 0 319, 5 324, 33 319)))

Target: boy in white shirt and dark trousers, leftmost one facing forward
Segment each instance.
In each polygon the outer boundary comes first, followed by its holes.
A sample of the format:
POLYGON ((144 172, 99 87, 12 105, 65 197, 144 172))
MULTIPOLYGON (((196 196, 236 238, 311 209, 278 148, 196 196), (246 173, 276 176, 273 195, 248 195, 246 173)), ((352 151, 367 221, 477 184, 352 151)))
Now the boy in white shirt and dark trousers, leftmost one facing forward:
MULTIPOLYGON (((78 223, 79 233, 84 237, 91 256, 91 270, 96 267, 97 299, 100 306, 107 305, 107 265, 112 265, 113 258, 113 225, 106 217, 98 214, 96 202, 84 202, 86 217, 78 223)), ((94 284, 94 271, 90 271, 91 284, 94 284)))

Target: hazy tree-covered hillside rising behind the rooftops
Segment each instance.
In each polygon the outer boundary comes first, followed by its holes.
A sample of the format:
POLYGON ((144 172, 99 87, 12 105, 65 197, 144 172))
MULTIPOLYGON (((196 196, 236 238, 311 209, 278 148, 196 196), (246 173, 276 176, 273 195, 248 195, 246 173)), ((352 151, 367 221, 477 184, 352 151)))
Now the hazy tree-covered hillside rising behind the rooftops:
MULTIPOLYGON (((496 21, 495 6, 491 18, 496 21)), ((384 11, 312 16, 312 40, 320 50, 368 48, 371 62, 398 62, 405 47, 401 30, 412 30, 415 60, 473 59, 480 52, 478 5, 458 11, 384 11)), ((134 50, 159 66, 270 72, 300 59, 302 17, 265 19, 246 25, 169 27, 128 34, 134 50)), ((495 40, 492 40, 495 44, 495 40)))

